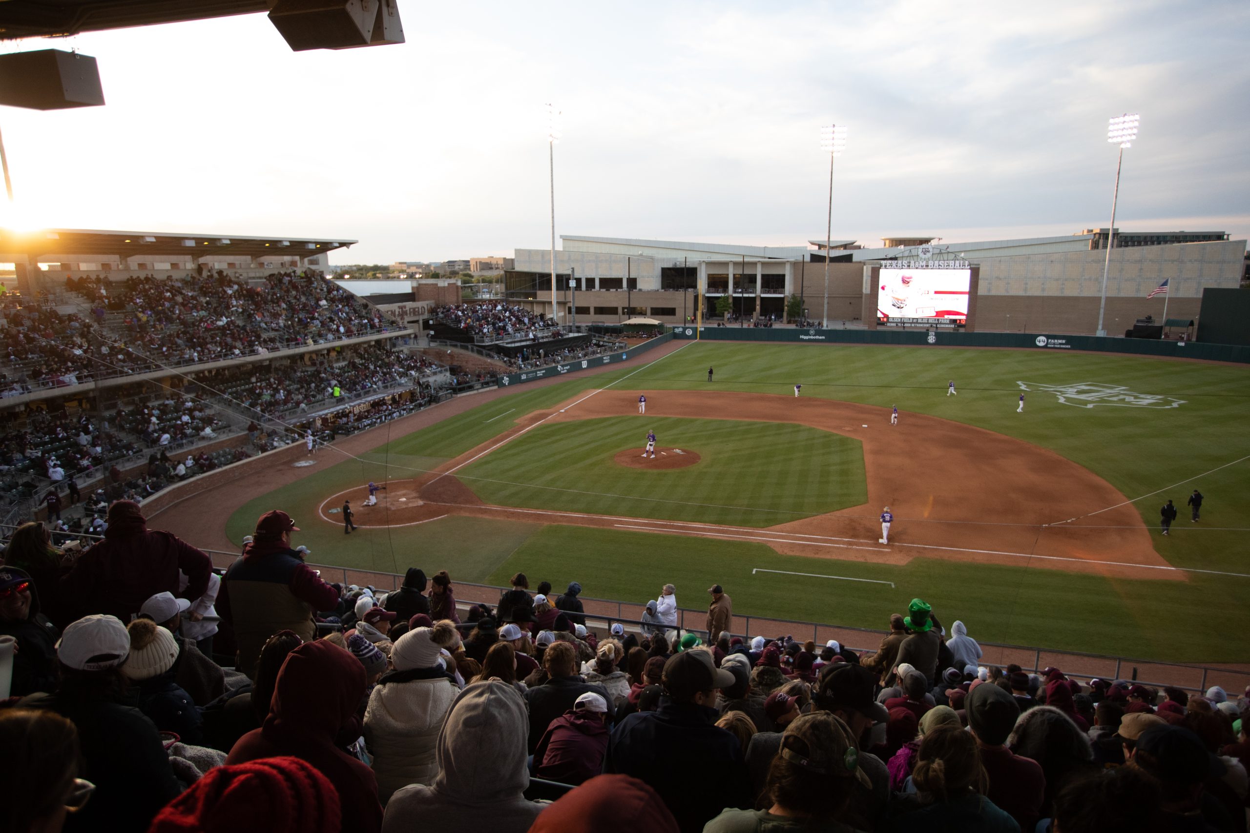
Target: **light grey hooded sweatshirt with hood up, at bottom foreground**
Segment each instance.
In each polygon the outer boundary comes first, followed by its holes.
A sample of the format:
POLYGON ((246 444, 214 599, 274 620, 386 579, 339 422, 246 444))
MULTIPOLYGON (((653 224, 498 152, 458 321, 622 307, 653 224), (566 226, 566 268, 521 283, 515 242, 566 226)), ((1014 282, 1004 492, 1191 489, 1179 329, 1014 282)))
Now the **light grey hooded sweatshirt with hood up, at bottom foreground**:
POLYGON ((439 731, 434 783, 391 796, 384 833, 408 833, 422 818, 448 831, 529 831, 544 806, 522 796, 530 784, 526 732, 525 701, 515 688, 498 679, 466 687, 439 731))

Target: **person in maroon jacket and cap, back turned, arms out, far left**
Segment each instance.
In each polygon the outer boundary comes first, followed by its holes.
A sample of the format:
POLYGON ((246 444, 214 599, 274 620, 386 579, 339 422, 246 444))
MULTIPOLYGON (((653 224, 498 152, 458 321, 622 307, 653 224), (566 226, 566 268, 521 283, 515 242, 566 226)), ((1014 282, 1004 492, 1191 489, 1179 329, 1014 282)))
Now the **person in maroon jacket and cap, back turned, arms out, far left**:
POLYGON ((104 541, 84 552, 61 579, 62 604, 72 617, 105 613, 122 622, 162 591, 196 599, 209 588, 212 561, 169 532, 148 530, 132 501, 109 507, 104 541), (179 591, 179 571, 190 579, 179 591))

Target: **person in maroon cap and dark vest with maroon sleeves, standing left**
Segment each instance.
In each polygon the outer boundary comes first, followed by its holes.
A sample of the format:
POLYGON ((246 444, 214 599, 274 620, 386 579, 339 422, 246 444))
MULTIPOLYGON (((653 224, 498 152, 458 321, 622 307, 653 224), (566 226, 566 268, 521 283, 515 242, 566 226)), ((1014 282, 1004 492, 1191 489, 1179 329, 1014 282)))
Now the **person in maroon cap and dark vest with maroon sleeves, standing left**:
POLYGON ((316 612, 339 603, 339 592, 291 548, 291 533, 299 531, 286 512, 265 512, 256 521, 251 543, 221 582, 218 613, 234 627, 236 666, 248 677, 255 673, 269 637, 292 631, 311 642, 316 639, 316 612))

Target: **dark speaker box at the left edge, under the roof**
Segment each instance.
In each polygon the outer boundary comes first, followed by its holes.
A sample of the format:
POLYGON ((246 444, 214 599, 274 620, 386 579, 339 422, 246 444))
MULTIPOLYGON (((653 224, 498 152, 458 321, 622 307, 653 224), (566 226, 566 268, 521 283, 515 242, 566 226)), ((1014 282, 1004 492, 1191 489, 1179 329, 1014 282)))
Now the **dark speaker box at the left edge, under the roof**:
POLYGON ((102 106, 100 70, 94 57, 59 49, 0 55, 0 104, 31 110, 102 106))

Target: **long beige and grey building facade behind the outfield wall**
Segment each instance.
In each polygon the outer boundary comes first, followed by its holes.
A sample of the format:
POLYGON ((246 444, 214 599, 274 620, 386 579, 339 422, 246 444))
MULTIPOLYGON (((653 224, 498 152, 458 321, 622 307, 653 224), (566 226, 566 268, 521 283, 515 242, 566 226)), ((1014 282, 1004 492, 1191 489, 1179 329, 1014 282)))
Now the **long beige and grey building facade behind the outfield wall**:
MULTIPOLYGON (((1072 235, 932 244, 931 237, 898 236, 880 247, 852 240, 831 242, 829 317, 831 326, 876 326, 874 269, 921 257, 966 261, 972 270, 975 315, 969 330, 1092 333, 1098 327, 1108 229, 1072 235), (898 245, 902 244, 902 245, 898 245)), ((555 252, 556 298, 561 318, 616 322, 646 316, 680 323, 696 315, 701 290, 704 317, 718 300, 732 297, 735 313, 784 317, 785 298, 799 295, 810 318, 822 316, 825 241, 805 246, 741 246, 668 240, 561 235, 555 252), (576 281, 576 291, 570 281, 576 281), (575 300, 574 300, 575 298, 575 300)), ((1148 315, 1161 320, 1165 295, 1146 296, 1168 281, 1168 318, 1198 317, 1202 290, 1235 288, 1245 270, 1246 241, 1222 231, 1115 231, 1106 282, 1106 330, 1132 327, 1148 315)), ((509 301, 551 312, 551 252, 518 249, 505 271, 509 301)))

